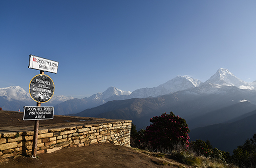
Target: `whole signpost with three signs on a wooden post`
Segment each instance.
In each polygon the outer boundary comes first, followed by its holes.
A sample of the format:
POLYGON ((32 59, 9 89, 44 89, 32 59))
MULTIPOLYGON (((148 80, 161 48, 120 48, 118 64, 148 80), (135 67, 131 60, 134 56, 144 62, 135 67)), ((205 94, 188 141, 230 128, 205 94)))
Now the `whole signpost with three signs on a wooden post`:
POLYGON ((59 63, 56 61, 29 55, 29 68, 40 70, 40 74, 34 76, 29 83, 29 93, 36 101, 36 106, 25 106, 23 120, 35 120, 32 158, 36 158, 37 136, 39 120, 53 119, 54 107, 41 107, 41 103, 49 101, 54 94, 54 83, 45 75, 45 71, 57 73, 59 63))

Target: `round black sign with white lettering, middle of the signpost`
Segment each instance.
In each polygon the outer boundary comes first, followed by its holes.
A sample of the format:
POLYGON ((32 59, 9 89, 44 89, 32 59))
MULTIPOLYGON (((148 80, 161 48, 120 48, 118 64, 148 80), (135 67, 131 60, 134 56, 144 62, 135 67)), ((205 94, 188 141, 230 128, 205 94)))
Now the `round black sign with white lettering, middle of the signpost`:
POLYGON ((48 75, 36 75, 29 83, 29 93, 38 103, 48 102, 54 94, 54 83, 48 75))

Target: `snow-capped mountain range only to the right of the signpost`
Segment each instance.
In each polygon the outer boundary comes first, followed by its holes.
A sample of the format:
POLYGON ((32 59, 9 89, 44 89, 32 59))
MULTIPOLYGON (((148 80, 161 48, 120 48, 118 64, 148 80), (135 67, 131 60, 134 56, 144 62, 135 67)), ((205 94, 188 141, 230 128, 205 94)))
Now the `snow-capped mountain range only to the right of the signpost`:
MULTIPOLYGON (((256 85, 256 82, 255 82, 256 85)), ((188 76, 177 76, 162 85, 154 88, 141 88, 134 92, 122 91, 115 87, 110 87, 103 93, 97 93, 90 97, 83 99, 73 99, 61 104, 56 105, 55 114, 67 115, 75 114, 81 110, 102 105, 108 101, 125 100, 131 98, 147 98, 158 97, 161 95, 172 94, 180 91, 188 92, 191 94, 212 94, 222 93, 226 94, 230 90, 235 91, 231 87, 238 87, 238 89, 251 89, 253 88, 250 83, 242 81, 234 76, 227 69, 220 68, 214 75, 206 82, 201 82, 188 76), (225 88, 227 87, 227 88, 225 88), (222 88, 222 89, 220 89, 222 88), (72 108, 71 108, 72 107, 72 108)))

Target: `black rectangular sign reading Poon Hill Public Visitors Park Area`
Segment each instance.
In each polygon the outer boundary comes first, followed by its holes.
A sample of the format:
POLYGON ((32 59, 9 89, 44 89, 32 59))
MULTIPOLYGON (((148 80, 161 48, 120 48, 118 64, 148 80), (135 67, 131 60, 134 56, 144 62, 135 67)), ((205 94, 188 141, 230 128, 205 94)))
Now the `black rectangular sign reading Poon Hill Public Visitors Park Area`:
POLYGON ((23 120, 49 120, 53 119, 54 107, 25 106, 23 120))

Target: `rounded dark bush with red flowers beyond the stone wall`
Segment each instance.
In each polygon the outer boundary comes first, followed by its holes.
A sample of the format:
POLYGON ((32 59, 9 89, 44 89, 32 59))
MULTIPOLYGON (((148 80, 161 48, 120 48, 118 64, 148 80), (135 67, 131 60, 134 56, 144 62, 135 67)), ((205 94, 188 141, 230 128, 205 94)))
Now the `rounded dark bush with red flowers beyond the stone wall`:
POLYGON ((170 114, 162 114, 150 119, 152 124, 146 127, 141 142, 148 143, 153 149, 173 149, 178 143, 188 146, 189 129, 186 120, 170 114))

